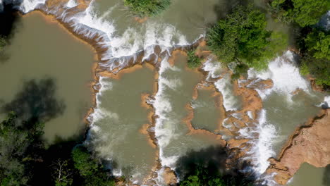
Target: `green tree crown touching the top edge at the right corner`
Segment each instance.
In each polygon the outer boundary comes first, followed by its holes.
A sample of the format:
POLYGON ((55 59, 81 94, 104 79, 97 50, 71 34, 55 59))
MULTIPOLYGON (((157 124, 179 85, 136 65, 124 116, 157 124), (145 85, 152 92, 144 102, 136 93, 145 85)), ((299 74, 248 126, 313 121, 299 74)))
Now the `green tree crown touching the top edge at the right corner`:
POLYGON ((329 0, 273 0, 269 5, 276 20, 284 23, 295 21, 301 27, 316 24, 330 9, 329 0))

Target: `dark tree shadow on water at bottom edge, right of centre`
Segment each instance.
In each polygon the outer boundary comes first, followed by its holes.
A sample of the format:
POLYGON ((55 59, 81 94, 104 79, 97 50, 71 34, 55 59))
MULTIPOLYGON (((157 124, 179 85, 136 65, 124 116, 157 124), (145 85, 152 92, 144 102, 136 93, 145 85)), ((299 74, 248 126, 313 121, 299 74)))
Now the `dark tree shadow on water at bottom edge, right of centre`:
POLYGON ((176 174, 180 180, 188 180, 198 175, 200 180, 221 178, 229 185, 257 185, 253 173, 243 173, 250 163, 240 161, 235 153, 226 147, 208 147, 200 151, 190 151, 178 159, 176 174))

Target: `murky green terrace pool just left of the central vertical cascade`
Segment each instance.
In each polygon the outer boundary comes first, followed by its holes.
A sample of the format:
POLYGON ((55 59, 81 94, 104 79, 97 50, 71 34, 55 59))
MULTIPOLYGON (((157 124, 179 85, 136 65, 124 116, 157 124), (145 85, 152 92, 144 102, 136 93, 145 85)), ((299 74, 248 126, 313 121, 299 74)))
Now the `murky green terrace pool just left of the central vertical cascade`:
POLYGON ((95 111, 87 142, 105 160, 114 162, 115 172, 139 183, 155 165, 156 149, 148 143, 148 135, 139 130, 148 124, 148 110, 141 106, 141 95, 152 94, 154 71, 141 68, 124 74, 120 80, 102 80, 104 90, 95 111))

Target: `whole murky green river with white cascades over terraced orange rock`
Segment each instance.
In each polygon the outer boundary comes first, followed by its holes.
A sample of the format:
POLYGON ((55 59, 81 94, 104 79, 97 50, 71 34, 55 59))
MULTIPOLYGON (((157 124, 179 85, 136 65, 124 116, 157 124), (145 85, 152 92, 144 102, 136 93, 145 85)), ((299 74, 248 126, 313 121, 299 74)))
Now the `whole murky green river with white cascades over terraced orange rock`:
MULTIPOLYGON (((243 139, 248 147, 244 159, 252 162, 259 179, 267 180, 262 175, 267 159, 278 156, 295 128, 321 110, 327 93, 312 90, 291 51, 270 61, 263 72, 250 69, 238 82, 211 56, 203 59, 203 73, 188 69, 185 51, 175 49, 197 42, 236 1, 174 0, 164 13, 147 19, 135 18, 119 0, 78 4, 82 2, 23 1, 21 11, 40 8, 65 27, 38 12, 20 18, 0 59, 5 87, 1 104, 16 100, 29 81, 40 85, 51 80, 61 111, 45 123, 46 142, 82 136, 85 116, 93 107, 85 144, 115 175, 137 184, 152 180, 164 185, 164 168, 175 170, 177 160, 188 152, 243 139), (71 32, 102 47, 94 74, 95 51, 71 32), (94 76, 98 82, 92 89, 94 76), (273 86, 254 84, 261 80, 271 80, 273 86), (262 100, 257 113, 245 111, 236 92, 247 81, 262 100)), ((288 185, 309 186, 308 175, 323 186, 324 171, 304 164, 288 185)))

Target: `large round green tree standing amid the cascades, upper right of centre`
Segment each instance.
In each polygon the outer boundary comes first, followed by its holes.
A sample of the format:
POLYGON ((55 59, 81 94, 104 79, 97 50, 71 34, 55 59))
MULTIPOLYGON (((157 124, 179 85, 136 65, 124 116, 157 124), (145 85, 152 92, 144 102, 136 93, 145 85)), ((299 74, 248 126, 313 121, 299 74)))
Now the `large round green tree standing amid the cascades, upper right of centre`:
POLYGON ((287 36, 266 30, 263 13, 251 5, 238 6, 207 33, 207 44, 224 63, 262 70, 286 46, 287 36))

